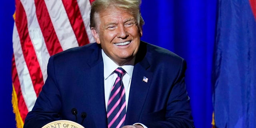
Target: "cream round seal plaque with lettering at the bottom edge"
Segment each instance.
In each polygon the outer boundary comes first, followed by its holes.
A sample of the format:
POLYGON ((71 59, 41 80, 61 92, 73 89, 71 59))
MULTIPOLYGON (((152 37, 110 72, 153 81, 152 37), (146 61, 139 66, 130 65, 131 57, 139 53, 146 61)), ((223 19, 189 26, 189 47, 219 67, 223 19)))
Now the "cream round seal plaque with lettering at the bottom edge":
POLYGON ((70 120, 57 120, 50 122, 42 128, 84 128, 82 125, 70 120))

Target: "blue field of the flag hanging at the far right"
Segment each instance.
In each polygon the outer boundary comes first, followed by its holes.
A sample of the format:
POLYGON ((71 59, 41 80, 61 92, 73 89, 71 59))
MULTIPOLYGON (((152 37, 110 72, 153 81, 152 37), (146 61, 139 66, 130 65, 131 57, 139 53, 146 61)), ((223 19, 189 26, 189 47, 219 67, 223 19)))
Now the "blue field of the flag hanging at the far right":
POLYGON ((218 0, 212 74, 216 128, 256 128, 255 6, 249 0, 218 0))

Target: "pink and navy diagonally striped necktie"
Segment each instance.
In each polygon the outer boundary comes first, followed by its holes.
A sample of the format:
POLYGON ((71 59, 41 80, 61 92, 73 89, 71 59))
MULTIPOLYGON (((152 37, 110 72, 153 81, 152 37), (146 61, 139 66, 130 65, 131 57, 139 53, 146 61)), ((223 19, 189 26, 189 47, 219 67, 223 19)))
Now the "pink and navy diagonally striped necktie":
POLYGON ((112 86, 108 100, 108 128, 121 128, 124 126, 126 116, 125 90, 122 82, 125 70, 119 67, 114 72, 118 76, 112 86))

